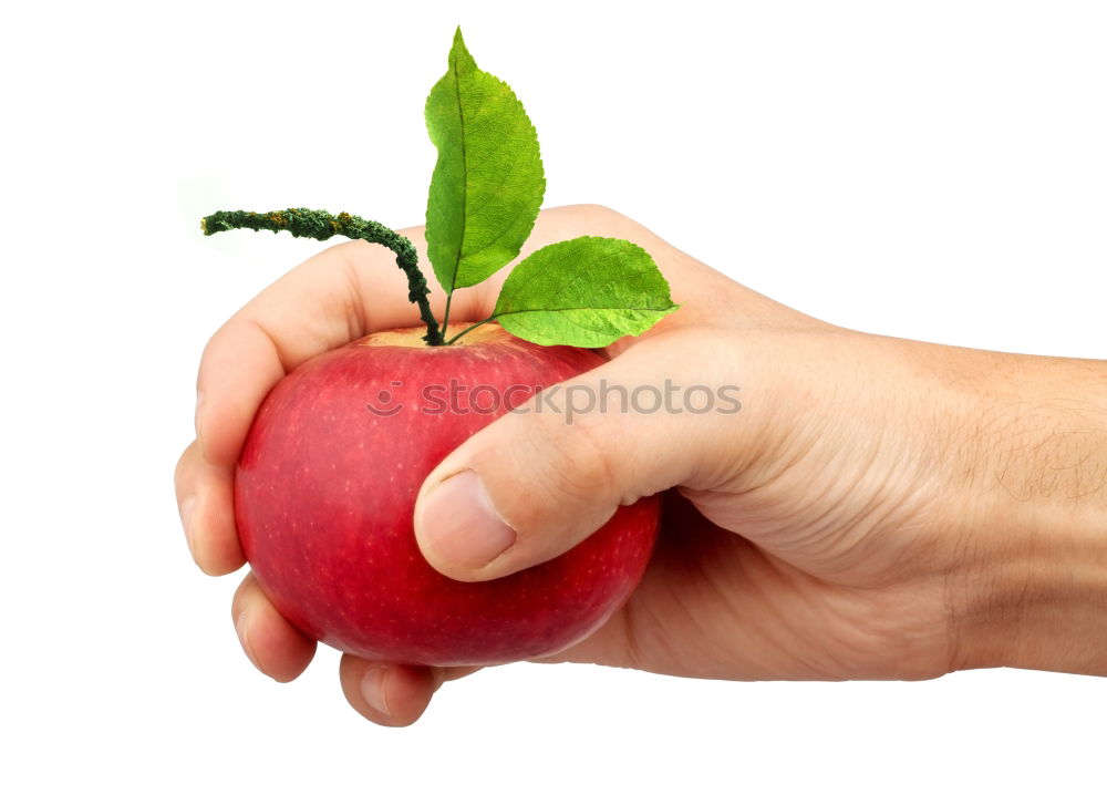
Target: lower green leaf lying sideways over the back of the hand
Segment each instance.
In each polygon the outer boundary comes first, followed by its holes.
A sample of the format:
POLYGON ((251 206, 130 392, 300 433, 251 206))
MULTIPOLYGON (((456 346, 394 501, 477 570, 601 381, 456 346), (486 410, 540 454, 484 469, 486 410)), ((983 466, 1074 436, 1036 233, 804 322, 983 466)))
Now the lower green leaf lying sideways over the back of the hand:
POLYGON ((508 332, 544 347, 607 347, 645 332, 677 307, 641 246, 582 237, 546 246, 516 266, 494 316, 508 332))

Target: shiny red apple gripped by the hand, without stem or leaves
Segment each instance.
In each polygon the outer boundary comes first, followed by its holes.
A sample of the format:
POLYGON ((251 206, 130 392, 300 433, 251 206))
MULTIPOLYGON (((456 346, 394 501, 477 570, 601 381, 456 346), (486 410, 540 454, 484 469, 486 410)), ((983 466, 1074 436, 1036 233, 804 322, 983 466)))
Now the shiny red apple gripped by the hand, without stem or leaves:
POLYGON ((250 566, 297 628, 370 660, 480 665, 566 649, 638 585, 658 533, 658 496, 619 507, 562 556, 477 582, 427 564, 412 515, 423 481, 469 435, 603 359, 538 347, 495 324, 451 347, 425 347, 422 333, 375 333, 318 355, 266 398, 235 477, 250 566), (458 405, 433 413, 452 381, 458 405), (427 391, 432 384, 442 393, 427 391), (515 391, 494 400, 488 386, 515 391))

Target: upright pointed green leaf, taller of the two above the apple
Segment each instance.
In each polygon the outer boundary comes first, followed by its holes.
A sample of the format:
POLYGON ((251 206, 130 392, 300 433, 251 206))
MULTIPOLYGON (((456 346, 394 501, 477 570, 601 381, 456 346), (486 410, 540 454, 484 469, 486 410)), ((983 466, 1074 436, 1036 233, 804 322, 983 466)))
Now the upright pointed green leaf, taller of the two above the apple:
POLYGON ((426 100, 438 149, 426 206, 426 242, 438 282, 452 292, 515 259, 546 192, 538 135, 511 92, 478 69, 454 34, 449 69, 426 100))

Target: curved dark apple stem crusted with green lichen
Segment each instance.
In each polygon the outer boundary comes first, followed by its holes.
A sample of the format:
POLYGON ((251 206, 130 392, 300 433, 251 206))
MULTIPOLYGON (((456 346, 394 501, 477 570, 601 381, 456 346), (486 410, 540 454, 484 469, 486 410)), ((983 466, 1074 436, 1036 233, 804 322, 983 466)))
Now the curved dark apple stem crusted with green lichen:
POLYGON ((331 215, 321 209, 290 207, 272 213, 247 213, 244 210, 213 213, 200 220, 205 235, 230 229, 266 229, 272 233, 287 231, 298 238, 328 240, 343 235, 353 240, 368 240, 392 249, 396 265, 407 275, 407 300, 418 306, 420 318, 426 323, 423 340, 431 347, 442 347, 445 341, 438 330, 438 322, 431 312, 430 291, 426 277, 418 269, 418 255, 412 241, 397 231, 389 229, 375 220, 365 220, 349 213, 331 215))

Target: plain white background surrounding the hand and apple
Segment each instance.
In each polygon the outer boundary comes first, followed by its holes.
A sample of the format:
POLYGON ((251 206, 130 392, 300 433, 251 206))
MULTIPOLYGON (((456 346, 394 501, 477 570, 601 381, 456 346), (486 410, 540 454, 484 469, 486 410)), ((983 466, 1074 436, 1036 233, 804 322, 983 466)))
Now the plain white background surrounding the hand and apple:
POLYGON ((172 471, 207 337, 322 248, 216 208, 421 223, 462 23, 597 202, 861 330, 1107 357, 1096 2, 20 3, 0 23, 0 799, 1103 802, 1107 680, 724 683, 518 665, 363 722, 258 674, 172 471))

